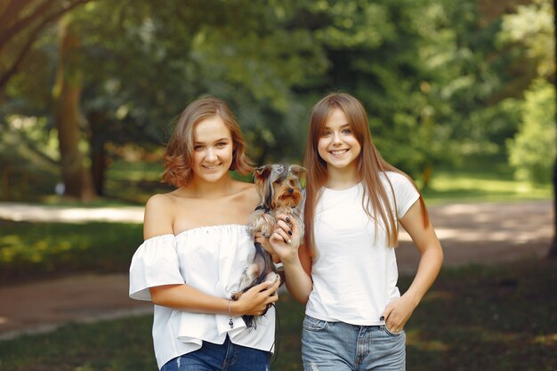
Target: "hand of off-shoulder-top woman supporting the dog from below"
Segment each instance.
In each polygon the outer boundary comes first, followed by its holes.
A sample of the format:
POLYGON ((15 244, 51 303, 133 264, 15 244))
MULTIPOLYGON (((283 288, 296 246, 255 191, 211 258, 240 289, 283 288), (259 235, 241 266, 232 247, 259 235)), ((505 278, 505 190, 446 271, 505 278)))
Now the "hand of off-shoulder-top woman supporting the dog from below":
POLYGON ((273 284, 265 281, 253 286, 242 294, 238 301, 230 302, 230 310, 234 316, 261 316, 269 304, 278 301, 280 279, 273 284))

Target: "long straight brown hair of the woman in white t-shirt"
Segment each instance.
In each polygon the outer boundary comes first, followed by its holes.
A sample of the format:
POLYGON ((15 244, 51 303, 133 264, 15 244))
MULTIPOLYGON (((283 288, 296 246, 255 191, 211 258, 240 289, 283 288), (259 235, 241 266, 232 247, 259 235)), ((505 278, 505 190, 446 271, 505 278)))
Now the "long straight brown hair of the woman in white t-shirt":
MULTIPOLYGON (((391 247, 398 246, 399 223, 392 213, 387 212, 391 210, 391 206, 394 206, 396 210, 396 199, 393 198, 395 205, 391 205, 388 192, 383 186, 380 174, 385 172, 400 173, 406 176, 409 181, 412 181, 415 187, 416 183, 406 173, 401 172, 381 157, 381 154, 375 148, 371 133, 369 133, 366 109, 364 109, 359 100, 348 93, 328 94, 321 101, 317 102, 311 112, 308 141, 303 157, 303 165, 307 169, 306 198, 303 214, 303 222, 305 224, 304 242, 306 246, 310 247, 311 252, 315 254, 315 238, 313 236, 315 206, 319 200, 321 187, 327 181, 327 162, 319 156, 318 142, 327 124, 327 119, 334 109, 340 109, 346 115, 351 131, 361 146, 358 157, 358 173, 364 189, 362 206, 366 214, 375 220, 375 230, 378 228, 378 220, 383 222, 387 235, 387 245, 391 247), (365 203, 366 198, 368 200, 367 204, 365 203)), ((391 181, 388 177, 385 179, 388 181, 394 196, 391 181)), ((422 206, 422 214, 424 216, 424 226, 427 226, 429 218, 422 196, 420 196, 420 205, 422 206)))

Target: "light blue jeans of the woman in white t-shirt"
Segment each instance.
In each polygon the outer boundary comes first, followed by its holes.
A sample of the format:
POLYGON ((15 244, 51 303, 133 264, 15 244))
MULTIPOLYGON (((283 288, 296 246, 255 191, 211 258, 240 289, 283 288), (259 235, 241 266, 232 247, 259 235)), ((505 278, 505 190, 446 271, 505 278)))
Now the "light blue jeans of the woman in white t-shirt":
POLYGON ((404 371, 406 334, 384 326, 354 326, 306 316, 302 359, 305 371, 404 371))

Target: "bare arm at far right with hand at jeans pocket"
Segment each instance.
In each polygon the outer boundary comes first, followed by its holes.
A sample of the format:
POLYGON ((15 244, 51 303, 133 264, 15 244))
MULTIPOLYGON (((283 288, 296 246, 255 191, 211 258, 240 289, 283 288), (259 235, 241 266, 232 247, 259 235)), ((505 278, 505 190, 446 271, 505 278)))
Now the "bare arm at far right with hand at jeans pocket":
POLYGON ((391 302, 383 311, 387 328, 392 332, 402 330, 424 294, 432 286, 439 274, 443 262, 443 250, 439 238, 428 221, 424 227, 424 215, 421 203, 416 201, 400 219, 400 224, 408 232, 420 253, 420 262, 416 277, 406 293, 391 302))

